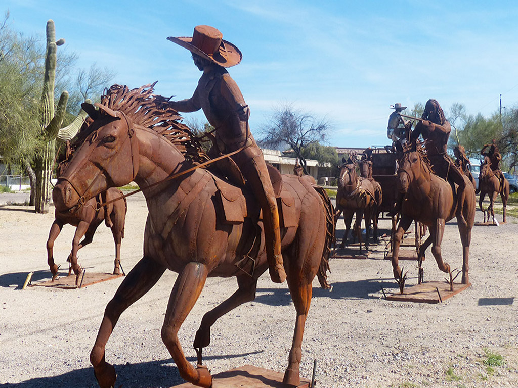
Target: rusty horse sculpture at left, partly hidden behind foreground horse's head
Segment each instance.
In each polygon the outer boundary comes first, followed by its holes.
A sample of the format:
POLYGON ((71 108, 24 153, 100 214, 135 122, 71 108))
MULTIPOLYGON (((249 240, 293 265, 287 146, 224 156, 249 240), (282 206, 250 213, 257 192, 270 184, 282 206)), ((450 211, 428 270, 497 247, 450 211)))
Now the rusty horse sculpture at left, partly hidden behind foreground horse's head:
MULTIPOLYGON (((109 201, 121 198, 122 195, 122 191, 117 188, 110 188, 106 191, 106 199, 109 201)), ((99 206, 100 203, 102 203, 102 200, 101 196, 98 195, 92 197, 85 202, 83 206, 73 211, 60 212, 56 208, 55 219, 50 227, 49 239, 47 241, 47 263, 49 264, 50 272, 52 272, 52 280, 57 276, 58 269, 54 263, 54 241, 61 233, 63 226, 69 223, 76 227, 76 233, 72 241, 72 251, 67 261, 70 262, 68 275, 70 275, 72 270, 74 270, 76 275, 79 275, 81 273, 81 267, 77 262, 77 252, 92 242, 95 231, 105 219, 105 212, 108 212, 112 220, 110 229, 113 234, 113 240, 115 241, 115 264, 113 274, 118 275, 121 273, 121 240, 124 238, 124 221, 127 211, 126 199, 111 202, 106 208, 99 206), (84 239, 80 242, 83 236, 84 239)))

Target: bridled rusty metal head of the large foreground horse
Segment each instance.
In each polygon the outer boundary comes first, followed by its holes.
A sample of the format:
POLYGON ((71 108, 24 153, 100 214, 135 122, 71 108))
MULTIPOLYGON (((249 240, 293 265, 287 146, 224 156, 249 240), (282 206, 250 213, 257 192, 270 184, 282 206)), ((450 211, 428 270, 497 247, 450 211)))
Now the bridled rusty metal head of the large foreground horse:
POLYGON ((82 108, 93 123, 52 191, 54 206, 66 211, 83 205, 109 187, 131 183, 138 172, 138 142, 131 120, 122 112, 95 103, 82 108))

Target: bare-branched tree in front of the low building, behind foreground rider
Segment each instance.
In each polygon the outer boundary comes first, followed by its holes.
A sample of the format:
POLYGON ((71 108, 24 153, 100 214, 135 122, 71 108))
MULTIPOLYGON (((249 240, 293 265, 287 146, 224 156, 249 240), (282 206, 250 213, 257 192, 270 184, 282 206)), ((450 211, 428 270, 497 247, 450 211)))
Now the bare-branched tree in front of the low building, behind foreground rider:
POLYGON ((303 151, 311 144, 325 143, 330 129, 330 123, 325 117, 316 118, 310 113, 294 109, 291 103, 285 103, 260 128, 258 143, 263 147, 276 149, 287 145, 299 158, 304 173, 308 174, 303 151))

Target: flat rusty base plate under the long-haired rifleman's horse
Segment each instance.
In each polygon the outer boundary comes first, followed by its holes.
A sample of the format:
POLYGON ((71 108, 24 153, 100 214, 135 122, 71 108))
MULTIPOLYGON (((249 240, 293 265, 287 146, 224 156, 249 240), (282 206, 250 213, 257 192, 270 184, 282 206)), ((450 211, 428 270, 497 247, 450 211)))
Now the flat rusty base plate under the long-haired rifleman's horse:
POLYGON ((386 299, 398 302, 439 303, 441 300, 447 300, 469 286, 471 286, 471 283, 467 285, 453 283, 453 291, 450 291, 450 285, 445 281, 427 281, 420 285, 405 287, 404 294, 392 294, 387 296, 386 299), (439 290, 440 299, 437 290, 439 290))

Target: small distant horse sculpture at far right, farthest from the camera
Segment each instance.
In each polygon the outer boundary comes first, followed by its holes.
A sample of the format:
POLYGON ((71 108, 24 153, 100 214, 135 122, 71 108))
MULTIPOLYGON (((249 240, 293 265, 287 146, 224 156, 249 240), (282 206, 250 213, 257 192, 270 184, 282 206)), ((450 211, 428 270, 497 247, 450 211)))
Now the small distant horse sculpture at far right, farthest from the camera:
POLYGON ((480 175, 479 175, 479 207, 482 213, 484 214, 484 222, 489 222, 489 217, 491 215, 493 219, 493 225, 496 223, 495 221, 495 201, 500 194, 500 198, 502 199, 503 205, 503 218, 502 221, 506 222, 506 209, 507 209, 507 201, 509 200, 509 181, 502 174, 502 181, 495 175, 493 170, 491 169, 491 165, 487 156, 484 158, 484 162, 480 165, 480 175), (484 197, 489 197, 490 204, 484 210, 482 206, 482 202, 484 201, 484 197))

